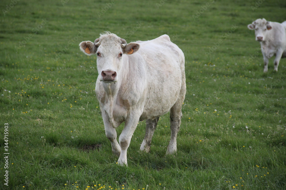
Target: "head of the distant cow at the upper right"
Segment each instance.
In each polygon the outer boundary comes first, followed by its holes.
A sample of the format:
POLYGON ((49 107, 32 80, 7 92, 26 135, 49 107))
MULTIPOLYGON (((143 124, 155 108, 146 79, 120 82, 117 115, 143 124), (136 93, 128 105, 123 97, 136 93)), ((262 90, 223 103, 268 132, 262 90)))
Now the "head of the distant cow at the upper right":
POLYGON ((250 30, 255 30, 255 40, 262 42, 265 41, 265 34, 272 26, 265 19, 257 19, 252 24, 248 24, 250 30))

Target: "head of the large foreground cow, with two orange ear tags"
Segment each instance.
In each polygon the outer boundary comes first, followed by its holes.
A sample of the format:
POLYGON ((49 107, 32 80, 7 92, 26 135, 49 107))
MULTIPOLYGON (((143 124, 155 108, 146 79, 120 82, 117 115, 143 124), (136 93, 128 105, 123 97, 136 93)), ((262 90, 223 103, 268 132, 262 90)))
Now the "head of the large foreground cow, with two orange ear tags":
POLYGON ((106 32, 100 34, 94 43, 84 41, 80 43, 80 50, 86 55, 97 54, 97 70, 100 81, 112 83, 118 81, 125 56, 130 56, 139 49, 140 45, 106 32), (129 55, 130 54, 130 55, 129 55))

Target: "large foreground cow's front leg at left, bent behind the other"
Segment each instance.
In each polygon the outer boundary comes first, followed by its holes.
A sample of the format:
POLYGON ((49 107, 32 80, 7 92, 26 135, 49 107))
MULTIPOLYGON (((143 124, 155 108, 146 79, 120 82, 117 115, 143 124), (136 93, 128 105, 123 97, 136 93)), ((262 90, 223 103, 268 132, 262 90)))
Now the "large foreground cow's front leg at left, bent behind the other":
POLYGON ((104 122, 104 129, 105 129, 105 135, 111 142, 111 148, 113 154, 120 156, 120 146, 117 142, 117 134, 115 128, 113 128, 109 116, 106 113, 106 111, 102 111, 102 118, 104 122))

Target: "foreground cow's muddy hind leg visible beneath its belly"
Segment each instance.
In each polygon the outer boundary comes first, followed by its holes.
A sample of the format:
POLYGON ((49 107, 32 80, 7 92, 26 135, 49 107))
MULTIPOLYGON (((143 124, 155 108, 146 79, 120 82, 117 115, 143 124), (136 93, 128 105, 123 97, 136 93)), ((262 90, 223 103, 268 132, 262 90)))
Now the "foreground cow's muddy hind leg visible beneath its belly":
POLYGON ((159 116, 153 120, 151 120, 151 119, 146 120, 146 132, 145 132, 144 140, 143 140, 141 147, 140 147, 141 151, 145 151, 145 152, 150 151, 151 140, 152 140, 154 131, 156 129, 158 120, 159 120, 159 116))

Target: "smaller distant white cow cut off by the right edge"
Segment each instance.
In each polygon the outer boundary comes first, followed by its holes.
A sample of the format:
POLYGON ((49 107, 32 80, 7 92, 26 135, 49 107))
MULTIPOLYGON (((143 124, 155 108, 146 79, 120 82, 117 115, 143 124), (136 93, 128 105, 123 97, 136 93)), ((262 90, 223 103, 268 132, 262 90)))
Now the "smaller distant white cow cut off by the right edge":
POLYGON ((248 28, 250 30, 255 29, 255 40, 261 44, 264 72, 268 71, 268 60, 273 55, 276 55, 274 70, 278 71, 280 59, 286 57, 286 21, 277 23, 257 19, 252 24, 248 24, 248 28))

